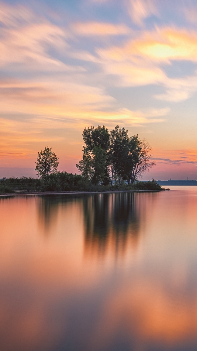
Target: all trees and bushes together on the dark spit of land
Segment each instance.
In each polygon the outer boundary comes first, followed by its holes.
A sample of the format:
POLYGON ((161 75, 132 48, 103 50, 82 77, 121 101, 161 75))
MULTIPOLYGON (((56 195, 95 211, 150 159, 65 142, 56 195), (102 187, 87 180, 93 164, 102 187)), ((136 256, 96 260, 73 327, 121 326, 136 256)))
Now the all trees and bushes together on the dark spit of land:
POLYGON ((145 140, 141 141, 138 135, 129 137, 128 130, 118 125, 110 133, 105 126, 98 126, 84 128, 83 140, 86 146, 83 146, 82 160, 76 164, 81 174, 57 172, 58 158, 47 146, 44 151, 38 152, 35 162, 35 170, 41 178, 2 180, 0 193, 162 190, 154 179, 138 181, 143 173, 155 165, 149 144, 145 140))

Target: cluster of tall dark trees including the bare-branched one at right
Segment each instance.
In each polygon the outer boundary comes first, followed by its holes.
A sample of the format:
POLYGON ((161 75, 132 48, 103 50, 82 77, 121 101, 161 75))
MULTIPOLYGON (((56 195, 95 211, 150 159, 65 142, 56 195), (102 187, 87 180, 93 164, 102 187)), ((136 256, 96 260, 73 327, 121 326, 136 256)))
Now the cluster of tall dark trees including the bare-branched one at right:
POLYGON ((117 125, 110 133, 104 126, 85 128, 83 140, 86 147, 76 167, 92 184, 113 185, 114 179, 119 185, 133 184, 155 165, 147 141, 129 137, 124 127, 117 125))

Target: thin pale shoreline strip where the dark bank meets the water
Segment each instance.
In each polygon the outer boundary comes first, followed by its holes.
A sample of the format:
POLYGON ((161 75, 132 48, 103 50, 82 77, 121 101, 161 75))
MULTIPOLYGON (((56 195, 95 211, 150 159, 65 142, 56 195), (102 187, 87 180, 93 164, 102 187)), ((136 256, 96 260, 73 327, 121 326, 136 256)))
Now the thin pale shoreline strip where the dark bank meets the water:
POLYGON ((166 191, 168 189, 161 190, 109 190, 109 191, 52 191, 52 192, 18 192, 18 193, 8 193, 8 194, 0 194, 2 196, 32 196, 32 195, 76 195, 76 194, 101 194, 101 193, 147 193, 147 192, 155 192, 155 191, 166 191))

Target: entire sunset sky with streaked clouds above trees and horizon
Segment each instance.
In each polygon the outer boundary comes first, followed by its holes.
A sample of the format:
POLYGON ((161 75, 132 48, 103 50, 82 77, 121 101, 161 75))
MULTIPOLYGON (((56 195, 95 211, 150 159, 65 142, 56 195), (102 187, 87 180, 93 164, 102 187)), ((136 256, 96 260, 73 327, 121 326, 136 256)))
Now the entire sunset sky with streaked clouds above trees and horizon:
POLYGON ((77 172, 84 127, 152 147, 144 179, 197 179, 197 1, 0 2, 0 178, 45 146, 77 172))

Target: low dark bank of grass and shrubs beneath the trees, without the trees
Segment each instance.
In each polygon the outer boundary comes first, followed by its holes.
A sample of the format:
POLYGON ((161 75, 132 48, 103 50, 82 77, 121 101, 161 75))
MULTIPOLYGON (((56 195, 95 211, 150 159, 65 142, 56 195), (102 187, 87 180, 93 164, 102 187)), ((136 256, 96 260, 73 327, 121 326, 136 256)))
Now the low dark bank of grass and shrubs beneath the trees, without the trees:
POLYGON ((46 179, 28 177, 7 178, 0 181, 0 193, 49 192, 49 191, 111 191, 111 190, 162 190, 155 180, 137 181, 132 185, 92 185, 80 174, 58 172, 46 179))

